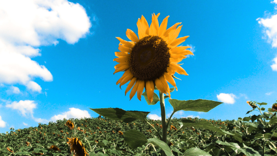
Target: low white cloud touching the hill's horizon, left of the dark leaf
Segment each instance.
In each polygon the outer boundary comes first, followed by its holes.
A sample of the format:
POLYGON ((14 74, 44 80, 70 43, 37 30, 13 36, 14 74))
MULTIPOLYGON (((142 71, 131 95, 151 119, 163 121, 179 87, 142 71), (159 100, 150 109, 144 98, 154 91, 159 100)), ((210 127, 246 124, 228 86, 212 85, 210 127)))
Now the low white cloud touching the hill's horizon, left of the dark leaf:
POLYGON ((69 108, 68 112, 64 112, 59 115, 51 117, 50 121, 55 122, 56 120, 62 120, 64 118, 81 118, 81 117, 90 117, 90 114, 86 110, 80 110, 78 108, 69 108))

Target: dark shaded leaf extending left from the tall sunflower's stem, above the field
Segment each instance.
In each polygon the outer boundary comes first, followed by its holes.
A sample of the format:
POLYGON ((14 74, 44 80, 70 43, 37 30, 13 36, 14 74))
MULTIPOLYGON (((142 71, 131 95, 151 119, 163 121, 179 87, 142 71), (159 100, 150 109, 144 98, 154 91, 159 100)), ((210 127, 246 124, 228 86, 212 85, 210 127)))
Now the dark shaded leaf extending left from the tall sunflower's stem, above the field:
POLYGON ((125 111, 121 108, 97 108, 92 109, 94 112, 98 113, 103 117, 107 117, 113 120, 121 120, 123 122, 129 123, 136 119, 140 119, 141 121, 146 121, 146 116, 150 112, 142 112, 142 111, 125 111))

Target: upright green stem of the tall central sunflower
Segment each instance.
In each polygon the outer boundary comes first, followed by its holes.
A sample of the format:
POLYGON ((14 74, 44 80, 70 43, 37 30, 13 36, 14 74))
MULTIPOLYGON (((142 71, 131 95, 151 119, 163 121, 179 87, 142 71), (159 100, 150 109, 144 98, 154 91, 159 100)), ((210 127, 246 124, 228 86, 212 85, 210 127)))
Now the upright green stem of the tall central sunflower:
POLYGON ((164 96, 161 91, 159 91, 159 96, 160 96, 161 118, 162 118, 162 141, 166 143, 167 141, 166 114, 165 114, 164 96))

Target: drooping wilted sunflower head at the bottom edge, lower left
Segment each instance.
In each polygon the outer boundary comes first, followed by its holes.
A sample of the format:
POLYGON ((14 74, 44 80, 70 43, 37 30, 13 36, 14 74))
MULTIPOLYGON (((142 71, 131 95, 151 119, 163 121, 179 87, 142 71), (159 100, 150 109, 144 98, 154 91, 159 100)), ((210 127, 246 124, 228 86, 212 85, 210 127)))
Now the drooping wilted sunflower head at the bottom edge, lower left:
POLYGON ((70 146, 70 152, 73 151, 74 155, 76 156, 87 156, 86 149, 84 145, 82 144, 81 140, 79 140, 77 137, 68 138, 69 142, 67 142, 70 146))

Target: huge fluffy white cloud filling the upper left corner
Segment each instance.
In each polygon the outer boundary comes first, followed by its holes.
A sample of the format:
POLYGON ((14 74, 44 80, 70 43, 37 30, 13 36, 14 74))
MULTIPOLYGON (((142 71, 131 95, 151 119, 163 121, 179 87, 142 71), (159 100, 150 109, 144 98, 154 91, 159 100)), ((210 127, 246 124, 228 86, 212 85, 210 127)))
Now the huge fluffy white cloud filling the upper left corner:
POLYGON ((85 8, 68 0, 0 0, 0 21, 0 84, 19 83, 38 92, 38 84, 30 87, 33 78, 53 79, 31 59, 41 56, 38 47, 58 39, 74 44, 91 27, 85 8))

